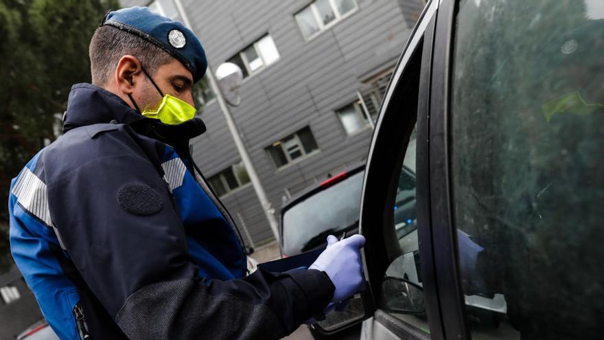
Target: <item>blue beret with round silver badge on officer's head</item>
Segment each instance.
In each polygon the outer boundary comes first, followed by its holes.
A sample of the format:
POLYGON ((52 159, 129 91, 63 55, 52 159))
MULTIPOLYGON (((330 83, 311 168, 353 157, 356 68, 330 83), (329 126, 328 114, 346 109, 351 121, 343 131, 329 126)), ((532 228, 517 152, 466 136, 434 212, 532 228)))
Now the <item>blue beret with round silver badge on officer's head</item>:
POLYGON ((205 51, 199 39, 183 23, 155 14, 146 7, 135 6, 109 12, 104 25, 136 34, 161 47, 191 71, 194 82, 205 74, 205 51))

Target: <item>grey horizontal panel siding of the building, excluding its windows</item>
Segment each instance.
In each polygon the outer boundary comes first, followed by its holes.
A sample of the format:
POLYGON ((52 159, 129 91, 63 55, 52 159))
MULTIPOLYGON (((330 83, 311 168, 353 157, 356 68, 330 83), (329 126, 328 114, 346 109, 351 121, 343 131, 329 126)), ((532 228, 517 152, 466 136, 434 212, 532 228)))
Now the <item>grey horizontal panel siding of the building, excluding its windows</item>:
MULTIPOLYGON (((328 172, 335 174, 345 164, 367 157, 371 128, 347 136, 334 111, 357 99, 360 78, 368 76, 362 73, 393 66, 422 0, 358 0, 357 12, 310 41, 305 41, 293 16, 309 0, 182 1, 213 67, 266 32, 275 41, 279 60, 244 80, 242 105, 232 113, 276 214, 286 189, 295 194, 325 179, 328 172), (275 168, 264 148, 304 126, 310 126, 319 150, 275 168)), ((192 141, 193 157, 209 177, 240 161, 240 155, 216 101, 205 106, 201 117, 208 130, 192 141)), ((237 223, 237 213, 244 218, 254 242, 272 238, 251 185, 222 201, 237 223)))

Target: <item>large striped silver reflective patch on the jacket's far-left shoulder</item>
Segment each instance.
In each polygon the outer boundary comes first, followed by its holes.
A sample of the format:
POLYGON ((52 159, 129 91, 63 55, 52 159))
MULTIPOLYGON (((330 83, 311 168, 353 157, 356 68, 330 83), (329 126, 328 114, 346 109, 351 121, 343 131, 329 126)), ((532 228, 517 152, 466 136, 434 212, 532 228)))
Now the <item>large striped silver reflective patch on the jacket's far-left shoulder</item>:
POLYGON ((52 225, 50 210, 48 208, 48 190, 46 184, 39 179, 29 168, 23 170, 11 191, 16 196, 16 201, 23 209, 39 218, 47 227, 54 230, 59 245, 65 249, 58 230, 52 225))

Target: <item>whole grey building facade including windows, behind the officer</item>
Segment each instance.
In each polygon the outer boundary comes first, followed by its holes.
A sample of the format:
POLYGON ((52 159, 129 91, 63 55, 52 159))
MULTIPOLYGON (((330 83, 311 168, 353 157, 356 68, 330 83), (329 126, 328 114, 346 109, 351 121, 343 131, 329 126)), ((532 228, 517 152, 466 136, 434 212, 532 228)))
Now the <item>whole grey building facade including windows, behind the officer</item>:
MULTIPOLYGON (((278 216, 288 197, 364 161, 372 120, 424 0, 122 0, 181 20, 211 67, 240 65, 233 120, 278 216)), ((207 132, 192 155, 246 242, 273 235, 207 82, 198 88, 207 132)), ((326 207, 329 209, 329 207, 326 207)))

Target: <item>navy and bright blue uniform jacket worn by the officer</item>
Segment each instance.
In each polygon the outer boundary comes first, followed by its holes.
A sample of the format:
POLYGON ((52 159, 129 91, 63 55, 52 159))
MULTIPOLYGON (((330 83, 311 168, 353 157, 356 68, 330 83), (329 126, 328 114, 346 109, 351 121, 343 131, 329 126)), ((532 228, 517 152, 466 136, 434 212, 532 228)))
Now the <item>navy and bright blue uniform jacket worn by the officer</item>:
POLYGON ((274 339, 332 299, 320 271, 246 276, 233 222, 193 170, 198 118, 166 126, 76 84, 63 131, 9 199, 12 255, 62 339, 274 339))

